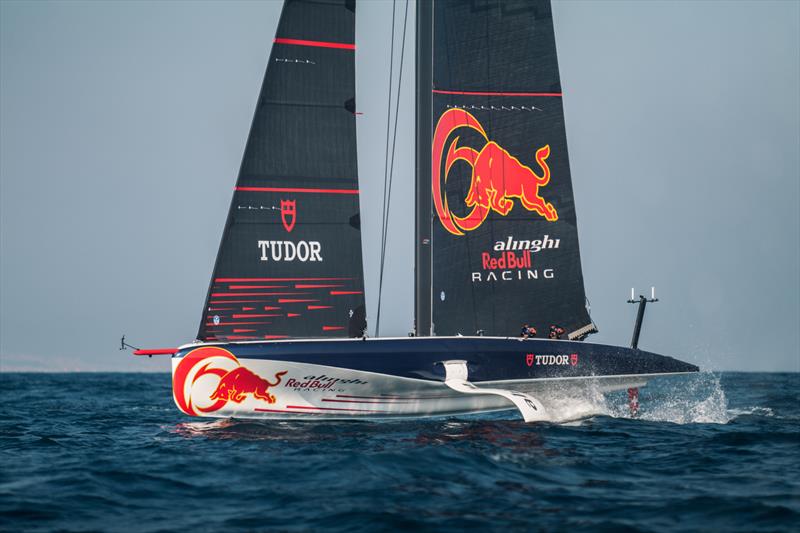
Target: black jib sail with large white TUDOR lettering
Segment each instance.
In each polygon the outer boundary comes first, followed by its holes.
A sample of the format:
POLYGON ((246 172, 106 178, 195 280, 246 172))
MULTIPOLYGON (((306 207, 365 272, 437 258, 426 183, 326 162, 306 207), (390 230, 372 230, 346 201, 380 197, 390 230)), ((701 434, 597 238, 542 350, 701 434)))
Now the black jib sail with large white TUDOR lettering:
POLYGON ((285 3, 199 339, 362 334, 354 41, 354 0, 285 3))

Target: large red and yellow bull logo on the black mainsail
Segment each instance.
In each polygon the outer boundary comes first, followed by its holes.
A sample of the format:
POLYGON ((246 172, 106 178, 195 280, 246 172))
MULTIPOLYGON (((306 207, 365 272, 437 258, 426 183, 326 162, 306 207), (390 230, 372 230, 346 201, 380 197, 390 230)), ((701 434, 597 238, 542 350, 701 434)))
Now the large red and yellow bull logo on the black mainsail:
POLYGON ((558 220, 558 212, 553 204, 545 201, 539 194, 541 187, 550 182, 550 145, 536 150, 536 163, 541 173, 537 174, 519 159, 508 153, 502 146, 490 141, 478 120, 464 109, 448 109, 439 118, 433 134, 432 150, 432 190, 433 204, 442 226, 453 235, 478 228, 490 211, 506 216, 514 207, 516 198, 528 211, 536 212, 545 220, 558 220), (480 150, 469 146, 458 146, 460 137, 455 137, 445 154, 445 144, 452 133, 460 128, 477 132, 486 141, 480 150), (444 175, 441 173, 444 159, 444 175), (463 161, 472 168, 470 188, 464 199, 470 211, 459 217, 450 210, 445 194, 445 186, 453 165, 463 161))

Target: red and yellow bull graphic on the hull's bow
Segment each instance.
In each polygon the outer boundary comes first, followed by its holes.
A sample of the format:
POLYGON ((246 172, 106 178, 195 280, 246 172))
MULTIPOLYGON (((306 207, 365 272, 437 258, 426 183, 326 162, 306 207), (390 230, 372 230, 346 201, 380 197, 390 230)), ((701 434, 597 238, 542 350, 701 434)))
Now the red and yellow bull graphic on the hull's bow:
POLYGON ((204 346, 181 358, 172 375, 172 393, 180 410, 194 416, 219 411, 228 402, 240 404, 248 396, 274 404, 276 398, 269 390, 285 374, 278 372, 269 381, 242 366, 228 350, 204 346))

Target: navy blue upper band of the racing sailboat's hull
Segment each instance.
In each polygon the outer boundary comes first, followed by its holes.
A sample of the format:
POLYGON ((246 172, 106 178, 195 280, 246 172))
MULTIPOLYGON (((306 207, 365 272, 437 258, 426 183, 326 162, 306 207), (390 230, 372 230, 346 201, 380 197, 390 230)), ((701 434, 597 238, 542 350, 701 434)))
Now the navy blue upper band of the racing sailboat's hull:
MULTIPOLYGON (((200 346, 200 345, 198 345, 200 346)), ((184 347, 182 357, 198 346, 184 347)), ((697 372, 697 366, 621 346, 547 339, 431 337, 228 343, 239 359, 308 363, 397 377, 444 380, 441 361, 467 361, 470 381, 697 372)))

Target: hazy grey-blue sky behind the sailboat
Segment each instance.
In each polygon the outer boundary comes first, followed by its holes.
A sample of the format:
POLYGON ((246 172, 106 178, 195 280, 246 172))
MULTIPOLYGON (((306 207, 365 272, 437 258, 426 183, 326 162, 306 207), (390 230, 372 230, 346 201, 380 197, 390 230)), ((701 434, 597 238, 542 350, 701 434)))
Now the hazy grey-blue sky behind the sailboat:
MULTIPOLYGON (((0 2, 1 370, 167 370, 119 336, 194 338, 280 7, 0 2)), ((800 370, 800 2, 553 11, 591 339, 627 344, 630 287, 655 285, 643 348, 800 370)), ((413 16, 394 214, 413 209, 413 16)), ((359 2, 372 327, 390 20, 359 2)), ((412 231, 390 227, 383 334, 411 327, 412 231)))

